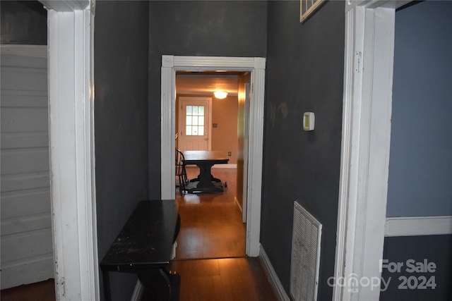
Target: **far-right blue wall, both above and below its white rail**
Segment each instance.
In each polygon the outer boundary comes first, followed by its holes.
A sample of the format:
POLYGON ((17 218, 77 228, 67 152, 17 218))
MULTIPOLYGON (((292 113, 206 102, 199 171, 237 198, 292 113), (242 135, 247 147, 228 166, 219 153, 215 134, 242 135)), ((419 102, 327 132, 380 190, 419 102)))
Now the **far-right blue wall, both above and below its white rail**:
MULTIPOLYGON (((450 1, 396 12, 387 216, 452 215, 451 14, 450 1)), ((451 254, 452 235, 386 238, 383 259, 403 266, 383 269, 391 282, 380 300, 452 300, 451 254), (410 259, 427 259, 436 271, 407 271, 410 259), (434 277, 435 288, 417 289, 422 276, 434 277), (415 287, 399 288, 399 277, 415 287)))

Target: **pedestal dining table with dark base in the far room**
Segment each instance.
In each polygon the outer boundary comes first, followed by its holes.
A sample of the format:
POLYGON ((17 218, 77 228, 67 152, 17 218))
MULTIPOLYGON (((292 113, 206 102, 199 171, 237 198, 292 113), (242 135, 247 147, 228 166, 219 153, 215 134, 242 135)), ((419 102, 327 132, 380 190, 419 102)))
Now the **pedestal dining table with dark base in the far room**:
POLYGON ((227 164, 229 158, 223 152, 218 151, 185 151, 184 164, 199 167, 199 176, 190 182, 198 182, 194 187, 187 187, 187 191, 193 192, 222 192, 222 183, 212 176, 211 168, 215 164, 227 164), (219 184, 215 184, 219 183, 219 184))

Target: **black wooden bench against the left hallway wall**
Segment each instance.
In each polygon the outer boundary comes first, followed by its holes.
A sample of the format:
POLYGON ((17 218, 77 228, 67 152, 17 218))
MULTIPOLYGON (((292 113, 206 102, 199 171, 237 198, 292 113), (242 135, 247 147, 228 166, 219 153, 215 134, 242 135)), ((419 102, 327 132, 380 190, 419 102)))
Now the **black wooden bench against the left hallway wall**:
POLYGON ((165 299, 174 299, 170 297, 174 293, 171 291, 174 277, 166 269, 177 235, 177 216, 174 199, 138 203, 100 262, 106 300, 111 300, 110 271, 138 274, 145 288, 149 283, 160 283, 165 299))

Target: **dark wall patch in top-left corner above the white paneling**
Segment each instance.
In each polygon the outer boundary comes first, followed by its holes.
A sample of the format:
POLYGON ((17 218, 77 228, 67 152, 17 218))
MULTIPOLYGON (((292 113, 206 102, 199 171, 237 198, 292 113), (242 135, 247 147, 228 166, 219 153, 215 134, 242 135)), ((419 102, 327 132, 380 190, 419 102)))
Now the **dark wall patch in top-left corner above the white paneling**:
POLYGON ((1 44, 47 45, 47 10, 38 1, 0 1, 1 44))

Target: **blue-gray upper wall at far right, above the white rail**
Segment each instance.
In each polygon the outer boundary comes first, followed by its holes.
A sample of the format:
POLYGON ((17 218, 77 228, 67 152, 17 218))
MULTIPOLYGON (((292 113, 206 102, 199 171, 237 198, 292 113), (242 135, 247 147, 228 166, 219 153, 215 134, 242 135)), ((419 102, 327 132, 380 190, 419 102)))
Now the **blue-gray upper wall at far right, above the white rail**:
POLYGON ((387 216, 452 215, 452 2, 396 13, 387 216))

